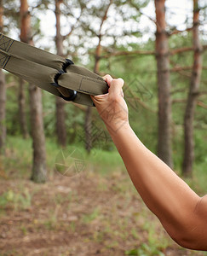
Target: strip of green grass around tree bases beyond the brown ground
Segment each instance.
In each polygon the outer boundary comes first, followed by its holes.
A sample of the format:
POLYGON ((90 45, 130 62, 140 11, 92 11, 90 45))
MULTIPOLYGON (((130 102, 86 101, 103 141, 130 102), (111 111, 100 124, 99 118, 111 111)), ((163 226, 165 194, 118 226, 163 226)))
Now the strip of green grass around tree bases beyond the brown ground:
MULTIPOLYGON (((78 149, 84 160, 83 172, 87 172, 89 169, 94 169, 91 166, 95 166, 95 172, 106 175, 110 172, 116 172, 117 170, 124 169, 123 161, 118 154, 118 151, 112 148, 111 151, 102 150, 101 148, 94 148, 91 154, 87 154, 83 148, 83 143, 79 145, 68 145, 66 147, 67 152, 72 152, 75 148, 78 149)), ((101 145, 100 145, 101 147, 101 145)), ((49 176, 53 176, 55 172, 55 159, 59 154, 61 147, 55 143, 52 139, 46 140, 47 151, 47 166, 49 170, 49 176)), ((7 140, 7 158, 3 158, 3 169, 6 175, 10 177, 30 177, 30 171, 32 168, 32 139, 22 139, 20 137, 8 137, 7 140)))

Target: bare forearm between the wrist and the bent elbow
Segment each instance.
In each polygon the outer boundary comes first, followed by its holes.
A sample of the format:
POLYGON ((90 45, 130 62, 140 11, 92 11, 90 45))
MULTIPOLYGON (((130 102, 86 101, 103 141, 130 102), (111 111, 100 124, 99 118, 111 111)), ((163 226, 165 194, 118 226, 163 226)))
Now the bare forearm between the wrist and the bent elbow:
POLYGON ((117 132, 108 130, 135 188, 170 236, 183 226, 188 229, 199 196, 141 143, 129 125, 117 132))

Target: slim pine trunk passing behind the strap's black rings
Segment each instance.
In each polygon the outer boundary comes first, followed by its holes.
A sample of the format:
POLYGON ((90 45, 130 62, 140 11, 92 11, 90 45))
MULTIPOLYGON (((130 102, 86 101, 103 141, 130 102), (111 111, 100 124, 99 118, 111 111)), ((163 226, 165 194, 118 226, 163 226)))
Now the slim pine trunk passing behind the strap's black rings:
MULTIPOLYGON (((56 17, 56 38, 55 44, 57 55, 63 56, 63 37, 60 32, 60 3, 61 0, 55 0, 55 17, 56 17)), ((58 143, 66 147, 66 103, 60 97, 56 97, 56 131, 58 143)))

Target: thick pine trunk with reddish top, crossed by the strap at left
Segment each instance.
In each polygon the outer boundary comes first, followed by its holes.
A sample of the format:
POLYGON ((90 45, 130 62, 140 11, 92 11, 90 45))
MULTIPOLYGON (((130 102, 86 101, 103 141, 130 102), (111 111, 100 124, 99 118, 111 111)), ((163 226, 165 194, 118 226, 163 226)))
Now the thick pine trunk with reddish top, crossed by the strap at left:
MULTIPOLYGON (((31 17, 28 12, 27 0, 20 2, 20 39, 27 44, 33 44, 31 36, 31 17)), ((46 150, 43 131, 42 92, 34 84, 30 84, 30 114, 33 145, 32 180, 44 183, 47 177, 46 150)))

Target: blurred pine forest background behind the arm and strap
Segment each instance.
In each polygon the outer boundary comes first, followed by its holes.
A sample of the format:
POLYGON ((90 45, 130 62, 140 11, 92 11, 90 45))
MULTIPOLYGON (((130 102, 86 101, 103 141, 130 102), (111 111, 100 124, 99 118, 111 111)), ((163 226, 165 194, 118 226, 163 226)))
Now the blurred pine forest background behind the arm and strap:
MULTIPOLYGON (((0 32, 123 78, 136 135, 205 195, 206 16, 204 0, 2 0, 0 32)), ((0 70, 1 256, 207 255, 149 212, 95 108, 36 85, 0 70)))

